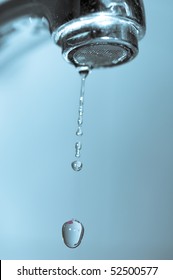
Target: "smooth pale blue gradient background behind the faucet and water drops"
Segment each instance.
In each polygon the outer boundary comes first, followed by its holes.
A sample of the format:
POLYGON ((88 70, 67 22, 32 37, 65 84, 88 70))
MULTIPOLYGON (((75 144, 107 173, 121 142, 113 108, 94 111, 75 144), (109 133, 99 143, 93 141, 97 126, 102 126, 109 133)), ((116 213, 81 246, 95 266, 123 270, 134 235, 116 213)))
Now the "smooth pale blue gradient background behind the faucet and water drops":
POLYGON ((81 173, 80 77, 60 49, 48 37, 0 69, 0 259, 173 259, 173 2, 144 4, 138 57, 87 79, 81 173))

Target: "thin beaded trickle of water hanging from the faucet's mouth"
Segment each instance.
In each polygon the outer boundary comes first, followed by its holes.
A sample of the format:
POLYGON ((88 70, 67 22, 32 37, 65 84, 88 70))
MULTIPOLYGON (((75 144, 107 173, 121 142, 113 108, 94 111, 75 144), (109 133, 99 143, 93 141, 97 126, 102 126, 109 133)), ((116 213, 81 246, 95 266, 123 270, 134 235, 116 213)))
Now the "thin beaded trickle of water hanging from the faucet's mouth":
POLYGON ((76 142, 75 144, 75 157, 78 160, 72 162, 71 166, 74 171, 80 171, 83 167, 82 162, 79 160, 81 156, 81 149, 82 149, 82 142, 81 137, 83 135, 83 114, 84 114, 84 94, 85 94, 85 80, 89 74, 89 68, 87 66, 81 67, 79 69, 79 74, 81 76, 81 90, 80 90, 80 97, 79 97, 79 109, 78 109, 78 119, 77 119, 77 130, 76 136, 80 137, 80 141, 76 142))

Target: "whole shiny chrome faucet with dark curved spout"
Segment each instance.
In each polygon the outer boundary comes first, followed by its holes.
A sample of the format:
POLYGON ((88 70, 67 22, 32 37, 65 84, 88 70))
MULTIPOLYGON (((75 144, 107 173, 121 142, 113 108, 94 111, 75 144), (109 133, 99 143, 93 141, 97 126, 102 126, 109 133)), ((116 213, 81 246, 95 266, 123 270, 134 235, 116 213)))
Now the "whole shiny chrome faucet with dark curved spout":
POLYGON ((65 60, 90 69, 132 60, 146 31, 142 0, 2 0, 0 48, 24 16, 46 19, 65 60))

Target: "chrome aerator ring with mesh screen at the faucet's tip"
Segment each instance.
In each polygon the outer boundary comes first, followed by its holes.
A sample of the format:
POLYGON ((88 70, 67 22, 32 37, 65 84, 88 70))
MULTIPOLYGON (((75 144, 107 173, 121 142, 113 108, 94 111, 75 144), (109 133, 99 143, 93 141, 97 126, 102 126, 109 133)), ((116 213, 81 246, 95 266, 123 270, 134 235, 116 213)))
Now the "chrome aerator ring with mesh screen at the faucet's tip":
POLYGON ((53 35, 55 42, 62 47, 64 58, 75 66, 111 67, 131 60, 138 53, 136 28, 124 19, 109 13, 97 13, 69 22, 56 30, 53 35), (90 55, 87 50, 93 49, 93 46, 95 51, 90 55), (100 48, 103 52, 100 52, 100 48), (81 53, 78 61, 75 59, 76 52, 81 53), (105 52, 108 54, 111 52, 111 60, 108 61, 105 52), (120 53, 123 55, 119 55, 120 53))

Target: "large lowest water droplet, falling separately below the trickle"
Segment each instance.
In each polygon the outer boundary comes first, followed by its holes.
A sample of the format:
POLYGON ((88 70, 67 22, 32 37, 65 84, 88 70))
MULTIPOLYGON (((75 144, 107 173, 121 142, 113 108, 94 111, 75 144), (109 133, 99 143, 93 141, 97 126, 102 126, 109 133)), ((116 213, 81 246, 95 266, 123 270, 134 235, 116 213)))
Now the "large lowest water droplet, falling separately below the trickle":
POLYGON ((76 248, 80 245, 84 235, 84 227, 77 220, 70 220, 62 226, 62 237, 69 248, 76 248))

